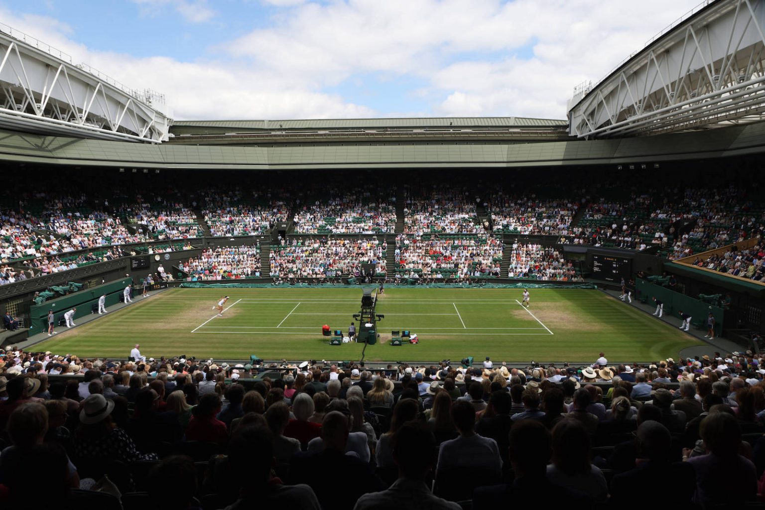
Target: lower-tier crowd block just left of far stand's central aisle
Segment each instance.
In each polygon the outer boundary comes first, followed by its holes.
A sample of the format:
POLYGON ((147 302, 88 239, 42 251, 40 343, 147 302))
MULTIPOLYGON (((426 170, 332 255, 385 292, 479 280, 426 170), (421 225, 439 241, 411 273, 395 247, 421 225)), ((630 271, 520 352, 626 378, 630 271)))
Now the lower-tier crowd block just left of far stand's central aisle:
POLYGON ((339 278, 386 274, 387 243, 372 239, 293 239, 272 245, 272 278, 339 278), (365 270, 366 267, 366 270, 365 270))

